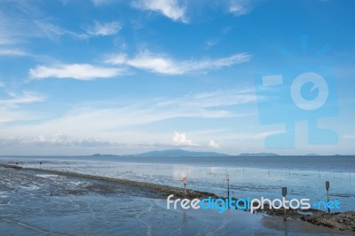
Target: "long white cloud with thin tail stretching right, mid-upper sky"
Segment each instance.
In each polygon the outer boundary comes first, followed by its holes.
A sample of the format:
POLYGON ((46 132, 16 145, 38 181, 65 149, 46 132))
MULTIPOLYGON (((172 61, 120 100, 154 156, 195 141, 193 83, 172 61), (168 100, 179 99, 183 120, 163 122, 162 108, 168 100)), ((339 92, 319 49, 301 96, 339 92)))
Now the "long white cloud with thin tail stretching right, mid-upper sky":
POLYGON ((124 64, 163 75, 183 75, 190 72, 203 72, 217 70, 222 67, 231 67, 234 64, 247 62, 249 59, 251 59, 251 55, 248 53, 239 53, 220 59, 177 61, 162 54, 154 54, 145 51, 138 54, 138 56, 133 59, 128 59, 124 54, 114 55, 109 57, 109 59, 106 59, 106 63, 112 65, 124 64))

